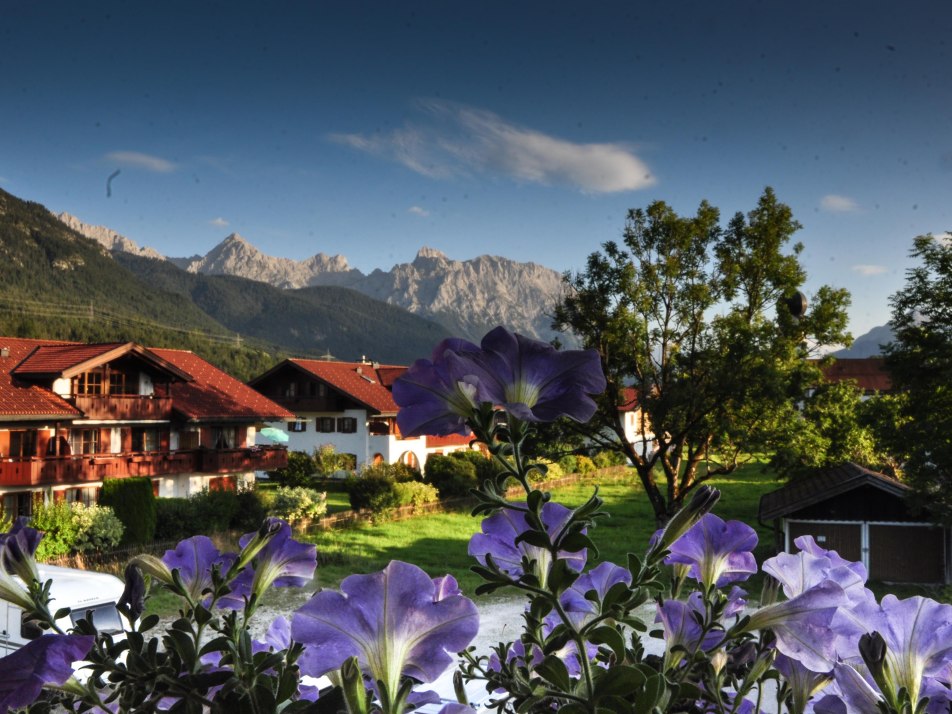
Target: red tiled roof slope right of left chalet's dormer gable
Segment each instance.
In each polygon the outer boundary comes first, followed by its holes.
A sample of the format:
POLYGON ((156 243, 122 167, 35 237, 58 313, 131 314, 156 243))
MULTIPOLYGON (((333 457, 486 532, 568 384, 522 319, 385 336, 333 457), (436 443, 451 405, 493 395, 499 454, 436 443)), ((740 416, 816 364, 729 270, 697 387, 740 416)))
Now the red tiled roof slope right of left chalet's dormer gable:
POLYGON ((153 349, 152 352, 192 376, 191 382, 176 382, 171 385, 172 406, 188 419, 294 419, 294 414, 284 407, 192 352, 171 349, 153 349))

